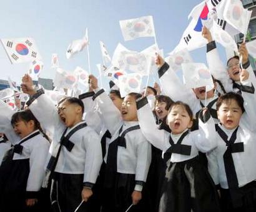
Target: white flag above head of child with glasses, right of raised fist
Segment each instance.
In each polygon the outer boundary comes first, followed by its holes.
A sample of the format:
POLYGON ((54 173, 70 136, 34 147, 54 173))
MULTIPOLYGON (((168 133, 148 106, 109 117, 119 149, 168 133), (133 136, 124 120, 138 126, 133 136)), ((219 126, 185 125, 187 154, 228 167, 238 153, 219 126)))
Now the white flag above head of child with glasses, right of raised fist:
POLYGON ((238 52, 237 44, 233 37, 231 37, 228 32, 223 30, 215 21, 210 31, 214 40, 223 45, 225 48, 230 48, 235 52, 238 52))

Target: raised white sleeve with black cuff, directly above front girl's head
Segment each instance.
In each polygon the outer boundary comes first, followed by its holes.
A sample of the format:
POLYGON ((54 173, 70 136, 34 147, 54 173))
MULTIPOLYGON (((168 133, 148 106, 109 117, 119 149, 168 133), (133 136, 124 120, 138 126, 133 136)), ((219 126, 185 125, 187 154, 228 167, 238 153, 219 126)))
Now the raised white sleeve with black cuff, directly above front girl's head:
POLYGON ((185 87, 166 62, 158 70, 158 75, 162 90, 166 96, 169 96, 173 101, 182 101, 189 104, 193 114, 200 110, 200 101, 195 96, 194 91, 185 87))

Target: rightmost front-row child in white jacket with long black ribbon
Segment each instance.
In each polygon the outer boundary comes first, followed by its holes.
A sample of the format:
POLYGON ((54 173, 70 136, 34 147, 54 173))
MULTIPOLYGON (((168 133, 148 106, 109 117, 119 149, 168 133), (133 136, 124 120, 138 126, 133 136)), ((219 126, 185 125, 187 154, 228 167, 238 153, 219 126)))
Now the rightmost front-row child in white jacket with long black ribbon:
POLYGON ((223 211, 256 210, 256 96, 246 70, 240 85, 242 96, 227 93, 217 101, 217 148, 208 157, 209 171, 220 183, 223 211))

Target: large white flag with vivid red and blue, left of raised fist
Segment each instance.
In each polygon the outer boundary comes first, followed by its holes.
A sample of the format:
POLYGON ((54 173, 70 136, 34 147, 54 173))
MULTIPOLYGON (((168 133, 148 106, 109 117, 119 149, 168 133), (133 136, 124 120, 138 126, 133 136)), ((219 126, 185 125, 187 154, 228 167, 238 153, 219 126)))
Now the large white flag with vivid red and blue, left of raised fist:
POLYGON ((193 17, 189 23, 187 29, 185 29, 180 39, 179 44, 175 47, 174 52, 178 52, 187 48, 187 50, 192 51, 196 48, 204 47, 207 44, 205 39, 202 39, 202 27, 203 22, 207 21, 209 14, 209 9, 207 4, 204 3, 204 7, 200 6, 200 10, 197 9, 190 14, 193 17))

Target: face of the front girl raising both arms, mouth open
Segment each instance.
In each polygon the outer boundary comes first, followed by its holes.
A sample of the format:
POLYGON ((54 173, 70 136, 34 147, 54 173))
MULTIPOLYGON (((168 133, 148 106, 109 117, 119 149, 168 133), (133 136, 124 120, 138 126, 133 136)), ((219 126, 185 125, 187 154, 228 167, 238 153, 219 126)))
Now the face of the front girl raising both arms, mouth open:
POLYGON ((180 134, 192 127, 193 121, 182 104, 175 104, 167 116, 167 124, 173 134, 180 134))

